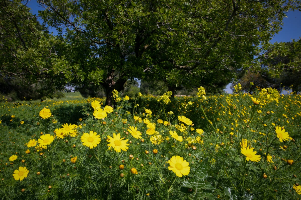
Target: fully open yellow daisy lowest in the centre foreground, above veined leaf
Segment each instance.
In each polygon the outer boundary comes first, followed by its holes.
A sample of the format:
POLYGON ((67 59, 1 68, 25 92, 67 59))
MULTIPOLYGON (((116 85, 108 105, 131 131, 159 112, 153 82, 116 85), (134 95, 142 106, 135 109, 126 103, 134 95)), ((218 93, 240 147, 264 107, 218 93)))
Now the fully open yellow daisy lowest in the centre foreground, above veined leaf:
POLYGON ((188 175, 190 172, 189 163, 180 156, 171 157, 170 160, 168 160, 168 163, 168 170, 174 172, 178 177, 188 175))

